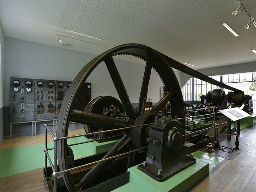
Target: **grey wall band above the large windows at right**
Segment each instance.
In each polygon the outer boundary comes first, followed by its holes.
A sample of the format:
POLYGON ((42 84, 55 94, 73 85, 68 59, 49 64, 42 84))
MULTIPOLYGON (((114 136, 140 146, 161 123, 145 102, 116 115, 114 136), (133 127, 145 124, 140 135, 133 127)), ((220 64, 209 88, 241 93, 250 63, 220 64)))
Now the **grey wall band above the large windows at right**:
MULTIPOLYGON (((255 72, 256 62, 240 63, 236 65, 228 65, 223 67, 214 67, 214 68, 207 68, 207 69, 199 69, 197 71, 207 76, 255 72)), ((183 87, 191 77, 192 76, 189 76, 181 72, 181 78, 180 78, 181 87, 183 87)))

